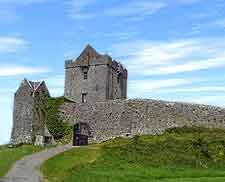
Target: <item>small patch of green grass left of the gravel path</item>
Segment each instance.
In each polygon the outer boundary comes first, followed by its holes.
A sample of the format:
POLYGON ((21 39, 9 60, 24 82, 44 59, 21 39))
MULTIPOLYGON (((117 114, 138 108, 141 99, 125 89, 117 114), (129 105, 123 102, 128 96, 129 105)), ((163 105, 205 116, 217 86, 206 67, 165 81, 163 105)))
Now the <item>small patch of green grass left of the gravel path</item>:
POLYGON ((41 147, 23 145, 15 148, 9 148, 7 145, 0 146, 0 177, 8 172, 12 165, 25 155, 40 151, 41 147))

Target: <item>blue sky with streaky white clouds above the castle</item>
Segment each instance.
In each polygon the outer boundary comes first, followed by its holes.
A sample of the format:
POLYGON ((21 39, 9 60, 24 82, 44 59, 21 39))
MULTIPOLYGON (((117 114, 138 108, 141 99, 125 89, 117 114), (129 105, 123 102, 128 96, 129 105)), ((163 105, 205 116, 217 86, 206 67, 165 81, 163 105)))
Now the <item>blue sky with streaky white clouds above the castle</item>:
POLYGON ((225 107, 224 0, 0 0, 0 143, 21 80, 63 95, 64 60, 86 44, 129 71, 129 98, 225 107))

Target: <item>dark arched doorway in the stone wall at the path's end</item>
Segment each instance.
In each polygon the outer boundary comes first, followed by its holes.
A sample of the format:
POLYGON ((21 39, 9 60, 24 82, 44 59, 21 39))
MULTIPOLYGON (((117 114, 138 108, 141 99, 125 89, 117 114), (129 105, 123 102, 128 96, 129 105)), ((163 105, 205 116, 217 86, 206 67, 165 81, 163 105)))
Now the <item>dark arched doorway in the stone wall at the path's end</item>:
POLYGON ((73 128, 73 146, 88 145, 90 129, 87 123, 77 123, 73 128))

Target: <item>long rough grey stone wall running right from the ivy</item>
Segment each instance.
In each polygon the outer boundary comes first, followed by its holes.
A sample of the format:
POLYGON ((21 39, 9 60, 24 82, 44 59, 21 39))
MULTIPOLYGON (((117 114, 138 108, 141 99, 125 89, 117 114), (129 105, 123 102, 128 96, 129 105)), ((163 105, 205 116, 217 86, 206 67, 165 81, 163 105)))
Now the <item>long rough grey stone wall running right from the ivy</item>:
POLYGON ((196 125, 225 128, 225 109, 156 100, 66 103, 60 111, 71 124, 88 123, 96 143, 118 136, 160 134, 167 128, 196 125))

